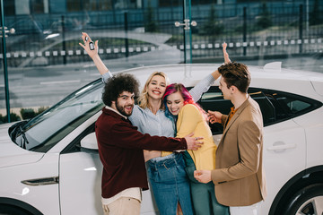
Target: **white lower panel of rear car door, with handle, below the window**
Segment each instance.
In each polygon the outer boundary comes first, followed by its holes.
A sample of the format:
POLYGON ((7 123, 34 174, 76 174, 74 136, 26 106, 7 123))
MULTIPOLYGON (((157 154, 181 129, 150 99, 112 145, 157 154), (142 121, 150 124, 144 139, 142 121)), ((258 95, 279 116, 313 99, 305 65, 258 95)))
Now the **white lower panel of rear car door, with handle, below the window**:
POLYGON ((305 169, 305 161, 305 133, 292 119, 264 128, 263 165, 267 197, 261 205, 261 213, 268 214, 276 194, 305 169))

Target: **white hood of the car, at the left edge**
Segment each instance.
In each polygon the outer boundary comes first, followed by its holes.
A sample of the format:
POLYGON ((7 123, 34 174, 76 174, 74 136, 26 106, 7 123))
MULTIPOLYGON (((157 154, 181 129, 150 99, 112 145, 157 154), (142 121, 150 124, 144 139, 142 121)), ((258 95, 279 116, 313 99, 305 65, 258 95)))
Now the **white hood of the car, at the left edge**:
POLYGON ((0 125, 0 168, 39 161, 44 153, 23 150, 10 139, 8 129, 11 125, 0 125))

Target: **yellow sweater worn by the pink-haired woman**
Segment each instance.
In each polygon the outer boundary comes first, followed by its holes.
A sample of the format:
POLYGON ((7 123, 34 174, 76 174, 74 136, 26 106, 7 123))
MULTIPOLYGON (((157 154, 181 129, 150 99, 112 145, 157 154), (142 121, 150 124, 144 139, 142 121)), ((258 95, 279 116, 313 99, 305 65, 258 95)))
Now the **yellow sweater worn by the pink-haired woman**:
MULTIPOLYGON (((215 150, 216 145, 209 125, 195 105, 187 104, 179 111, 177 121, 177 136, 185 137, 189 133, 194 133, 194 137, 204 137, 204 144, 198 150, 188 150, 194 160, 196 169, 215 169, 215 150)), ((162 156, 169 155, 171 152, 162 151, 162 156)))

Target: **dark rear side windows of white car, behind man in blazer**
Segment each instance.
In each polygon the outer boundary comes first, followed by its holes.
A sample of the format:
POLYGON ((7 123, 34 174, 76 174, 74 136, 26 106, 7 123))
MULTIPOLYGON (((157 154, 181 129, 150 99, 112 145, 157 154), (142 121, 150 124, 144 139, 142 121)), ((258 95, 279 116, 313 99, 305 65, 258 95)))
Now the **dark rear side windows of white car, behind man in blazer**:
MULTIPOLYGON (((273 125, 295 116, 301 116, 322 106, 322 103, 300 95, 278 90, 249 88, 249 95, 258 102, 263 115, 264 126, 273 125)), ((229 114, 233 107, 230 100, 223 99, 217 86, 205 92, 198 103, 207 110, 229 114)), ((210 124, 212 133, 223 133, 223 126, 210 124)))

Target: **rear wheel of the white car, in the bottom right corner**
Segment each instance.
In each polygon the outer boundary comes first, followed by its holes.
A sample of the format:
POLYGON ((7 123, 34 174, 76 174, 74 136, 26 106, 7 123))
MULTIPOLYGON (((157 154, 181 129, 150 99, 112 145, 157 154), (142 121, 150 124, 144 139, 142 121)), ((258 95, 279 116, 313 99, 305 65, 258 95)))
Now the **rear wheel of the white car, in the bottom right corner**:
POLYGON ((323 184, 308 185, 295 193, 284 214, 323 215, 323 184))

